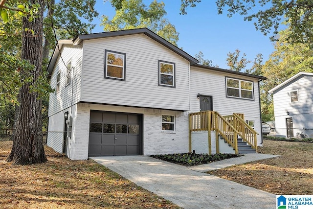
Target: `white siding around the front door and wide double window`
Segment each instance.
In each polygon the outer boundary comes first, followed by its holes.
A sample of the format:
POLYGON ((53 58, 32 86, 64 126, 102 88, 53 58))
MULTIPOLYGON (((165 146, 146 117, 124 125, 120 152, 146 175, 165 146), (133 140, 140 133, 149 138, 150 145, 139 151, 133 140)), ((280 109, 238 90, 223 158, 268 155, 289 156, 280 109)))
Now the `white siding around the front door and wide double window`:
MULTIPOLYGON (((215 70, 201 69, 191 66, 190 68, 190 106, 192 112, 200 111, 200 100, 197 94, 212 96, 213 111, 222 116, 233 113, 245 114, 245 120, 253 120, 255 131, 261 133, 261 118, 259 106, 258 79, 233 73, 219 72, 215 70), (225 96, 225 76, 239 80, 253 81, 254 100, 235 99, 225 96)), ((261 143, 261 135, 257 135, 258 144, 261 143)))

